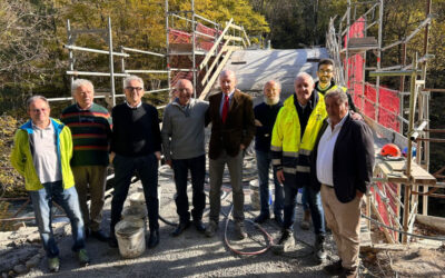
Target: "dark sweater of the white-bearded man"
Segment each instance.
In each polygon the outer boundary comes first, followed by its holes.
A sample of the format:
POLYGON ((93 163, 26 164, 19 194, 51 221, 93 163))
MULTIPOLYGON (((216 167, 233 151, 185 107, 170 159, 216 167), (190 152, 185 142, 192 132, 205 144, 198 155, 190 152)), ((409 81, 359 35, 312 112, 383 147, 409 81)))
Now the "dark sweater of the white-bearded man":
POLYGON ((254 108, 255 119, 260 121, 263 127, 257 127, 255 133, 255 149, 269 152, 271 130, 274 129, 275 119, 277 118, 279 109, 281 109, 283 102, 279 101, 276 105, 269 106, 265 102, 259 103, 254 108))

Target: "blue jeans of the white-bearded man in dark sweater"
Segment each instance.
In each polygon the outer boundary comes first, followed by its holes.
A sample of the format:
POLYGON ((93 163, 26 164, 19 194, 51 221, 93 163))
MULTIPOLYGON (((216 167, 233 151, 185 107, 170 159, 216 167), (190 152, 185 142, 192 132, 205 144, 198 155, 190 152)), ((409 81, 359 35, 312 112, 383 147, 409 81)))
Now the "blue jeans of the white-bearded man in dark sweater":
MULTIPOLYGON (((271 162, 271 152, 255 150, 257 156, 258 167, 258 180, 259 180, 259 199, 261 202, 260 214, 269 216, 269 169, 271 162)), ((274 201, 274 215, 275 217, 281 218, 283 215, 283 201, 284 192, 283 187, 279 185, 277 175, 274 170, 274 185, 275 185, 275 201, 274 201)))

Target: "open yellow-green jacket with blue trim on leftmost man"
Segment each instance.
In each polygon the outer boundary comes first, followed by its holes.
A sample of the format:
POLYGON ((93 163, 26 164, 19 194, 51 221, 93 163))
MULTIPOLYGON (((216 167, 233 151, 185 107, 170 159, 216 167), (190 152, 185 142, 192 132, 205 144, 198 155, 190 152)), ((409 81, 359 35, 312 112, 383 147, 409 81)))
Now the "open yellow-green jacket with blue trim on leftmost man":
MULTIPOLYGON (((56 132, 57 155, 60 161, 63 188, 68 189, 75 186, 75 177, 72 176, 70 167, 70 160, 72 157, 71 131, 60 121, 52 118, 50 119, 56 132)), ((11 152, 11 165, 24 177, 24 187, 30 191, 43 188, 36 172, 32 160, 33 147, 30 140, 30 135, 32 132, 32 123, 29 120, 17 130, 11 152)))

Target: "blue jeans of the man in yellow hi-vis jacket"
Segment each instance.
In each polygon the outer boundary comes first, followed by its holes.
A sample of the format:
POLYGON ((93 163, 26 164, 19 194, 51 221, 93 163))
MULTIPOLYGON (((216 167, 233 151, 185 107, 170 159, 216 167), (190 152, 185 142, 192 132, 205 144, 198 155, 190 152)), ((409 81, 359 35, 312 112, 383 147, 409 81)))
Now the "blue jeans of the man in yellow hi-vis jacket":
MULTIPOLYGON (((297 203, 298 188, 296 185, 289 185, 285 180, 285 209, 284 209, 284 229, 294 230, 294 222, 296 218, 295 207, 297 203)), ((325 228, 325 212, 322 205, 322 196, 319 191, 306 187, 307 202, 310 209, 310 217, 313 218, 315 235, 324 236, 325 228)))

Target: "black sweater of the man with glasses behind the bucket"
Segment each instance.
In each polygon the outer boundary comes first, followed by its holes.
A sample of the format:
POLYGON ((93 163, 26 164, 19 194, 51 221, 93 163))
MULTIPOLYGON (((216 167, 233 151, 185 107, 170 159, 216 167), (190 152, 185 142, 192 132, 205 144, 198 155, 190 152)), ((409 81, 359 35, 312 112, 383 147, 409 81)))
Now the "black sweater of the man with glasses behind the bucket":
POLYGON ((142 103, 130 108, 121 103, 112 108, 111 151, 125 157, 139 157, 160 151, 158 111, 142 103))

